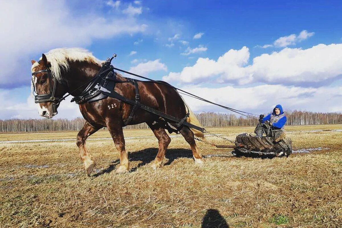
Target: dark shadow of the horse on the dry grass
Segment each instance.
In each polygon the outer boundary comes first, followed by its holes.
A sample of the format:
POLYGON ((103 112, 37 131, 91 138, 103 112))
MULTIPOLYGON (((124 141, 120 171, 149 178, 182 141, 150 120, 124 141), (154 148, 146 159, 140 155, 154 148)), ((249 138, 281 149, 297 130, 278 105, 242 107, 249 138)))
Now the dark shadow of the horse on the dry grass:
MULTIPOLYGON (((158 148, 147 148, 128 154, 129 161, 141 161, 136 167, 132 168, 129 172, 135 172, 139 167, 144 166, 152 162, 158 153, 158 148)), ((170 165, 174 160, 178 158, 193 158, 192 150, 190 149, 168 149, 165 153, 165 158, 168 159, 163 165, 170 165)), ((110 173, 115 170, 115 167, 120 163, 120 159, 112 161, 106 169, 101 170, 93 175, 93 177, 101 176, 105 173, 110 173)))

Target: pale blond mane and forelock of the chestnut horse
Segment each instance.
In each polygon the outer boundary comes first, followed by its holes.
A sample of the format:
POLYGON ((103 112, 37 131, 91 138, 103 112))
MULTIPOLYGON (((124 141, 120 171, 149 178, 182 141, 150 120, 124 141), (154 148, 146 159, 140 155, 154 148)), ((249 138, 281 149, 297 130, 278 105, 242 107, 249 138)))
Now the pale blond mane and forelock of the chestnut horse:
MULTIPOLYGON (((56 48, 50 50, 45 54, 48 62, 51 63, 51 71, 57 81, 62 81, 61 71, 69 70, 70 62, 83 62, 93 63, 101 66, 102 61, 98 60, 93 56, 91 52, 83 48, 56 48)), ((41 60, 41 58, 39 59, 41 60)), ((36 62, 32 65, 31 71, 34 72, 34 68, 38 66, 39 63, 36 62)))

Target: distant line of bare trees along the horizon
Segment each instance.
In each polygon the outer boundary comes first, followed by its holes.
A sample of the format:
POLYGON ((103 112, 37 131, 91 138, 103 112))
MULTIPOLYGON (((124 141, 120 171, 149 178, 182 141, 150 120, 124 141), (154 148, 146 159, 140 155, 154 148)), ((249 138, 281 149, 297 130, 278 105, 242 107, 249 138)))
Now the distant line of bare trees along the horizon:
MULTIPOLYGON (((227 126, 255 126, 258 118, 253 116, 236 117, 234 114, 222 114, 215 112, 203 112, 196 115, 204 127, 227 127, 227 126)), ((287 125, 317 125, 317 124, 342 124, 342 113, 329 112, 286 112, 287 125)), ((0 132, 38 132, 38 131, 79 131, 85 120, 76 118, 67 119, 11 119, 0 120, 0 132)), ((126 129, 148 128, 147 124, 126 126, 126 129)))

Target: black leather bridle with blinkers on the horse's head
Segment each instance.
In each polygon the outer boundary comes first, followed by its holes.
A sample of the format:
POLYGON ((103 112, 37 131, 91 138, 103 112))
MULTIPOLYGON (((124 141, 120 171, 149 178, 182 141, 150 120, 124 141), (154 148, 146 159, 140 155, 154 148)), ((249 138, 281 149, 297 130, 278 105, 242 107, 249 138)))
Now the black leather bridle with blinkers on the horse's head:
POLYGON ((49 84, 50 84, 50 93, 37 94, 36 85, 35 85, 35 83, 33 81, 33 77, 32 77, 33 95, 35 96, 35 103, 52 102, 54 105, 58 105, 60 103, 60 98, 55 97, 57 80, 56 80, 55 76, 52 75, 50 68, 35 71, 32 73, 32 76, 35 76, 38 73, 43 73, 43 72, 48 73, 49 84), (51 84, 52 82, 53 82, 53 85, 51 84))

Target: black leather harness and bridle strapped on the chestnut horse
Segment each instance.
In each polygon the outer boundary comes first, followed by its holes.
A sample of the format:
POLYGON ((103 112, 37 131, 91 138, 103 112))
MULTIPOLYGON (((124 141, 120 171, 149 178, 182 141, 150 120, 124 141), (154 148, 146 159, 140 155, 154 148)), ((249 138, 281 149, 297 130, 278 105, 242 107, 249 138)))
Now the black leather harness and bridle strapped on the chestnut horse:
MULTIPOLYGON (((113 57, 115 57, 115 56, 113 56, 113 57)), ((91 103, 91 102, 96 102, 98 100, 102 100, 102 99, 107 98, 109 96, 109 97, 112 97, 115 99, 122 100, 123 102, 128 103, 128 104, 133 106, 129 117, 123 121, 124 125, 128 125, 132 121, 135 111, 140 108, 140 109, 143 109, 145 111, 148 111, 150 113, 153 113, 153 114, 159 116, 158 122, 161 124, 161 126, 163 128, 167 129, 170 133, 172 133, 172 132, 178 133, 179 129, 181 128, 182 125, 186 125, 190 128, 199 130, 201 132, 205 131, 204 128, 201 128, 199 126, 196 126, 194 124, 186 122, 187 117, 189 117, 189 113, 187 113, 184 118, 178 119, 176 117, 173 117, 173 116, 168 115, 164 112, 158 111, 154 108, 151 108, 149 106, 146 106, 146 105, 140 103, 139 102, 140 94, 139 94, 138 82, 142 82, 142 81, 132 79, 132 78, 126 78, 127 79, 126 81, 117 80, 116 73, 114 72, 114 67, 110 64, 113 57, 110 59, 107 58, 107 61, 102 65, 101 69, 99 70, 97 75, 92 80, 81 85, 79 88, 76 89, 76 90, 78 90, 81 87, 83 87, 84 85, 88 84, 87 87, 81 92, 80 95, 75 96, 73 99, 71 99, 71 102, 75 102, 77 104, 91 103), (135 86, 135 100, 128 99, 128 98, 122 96, 121 94, 117 93, 116 91, 114 91, 116 83, 127 83, 127 82, 129 82, 135 86), (169 122, 173 123, 172 125, 174 125, 177 129, 175 130, 175 129, 171 128, 170 125, 168 124, 169 122)), ((47 72, 50 82, 54 81, 54 83, 53 83, 53 86, 50 83, 50 91, 52 90, 52 93, 35 95, 35 103, 53 102, 53 104, 57 106, 62 100, 65 99, 65 97, 69 96, 70 93, 68 95, 62 97, 62 98, 55 97, 55 91, 56 91, 56 84, 57 83, 56 83, 55 77, 52 76, 51 70, 49 68, 45 69, 45 70, 35 71, 32 73, 32 76, 36 75, 37 73, 41 73, 41 72, 47 72)), ((153 83, 165 84, 165 82, 161 82, 161 81, 144 81, 144 82, 153 82, 153 83)), ((32 79, 32 84, 33 84, 33 79, 32 79)), ((34 88, 35 88, 35 86, 34 86, 34 88)), ((74 90, 74 91, 76 91, 76 90, 74 90)), ((74 91, 72 91, 72 92, 74 92, 74 91)), ((36 92, 35 89, 34 89, 34 92, 36 92)))

